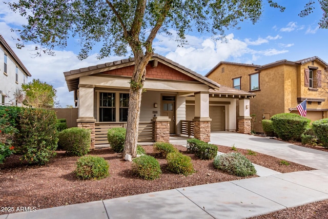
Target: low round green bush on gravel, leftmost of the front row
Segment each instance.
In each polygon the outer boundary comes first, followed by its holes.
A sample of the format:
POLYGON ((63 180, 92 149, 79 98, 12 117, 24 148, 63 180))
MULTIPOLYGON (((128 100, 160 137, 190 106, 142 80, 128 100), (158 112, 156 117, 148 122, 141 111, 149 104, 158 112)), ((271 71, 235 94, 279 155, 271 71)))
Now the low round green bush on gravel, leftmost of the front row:
POLYGON ((103 157, 87 155, 76 162, 75 174, 81 180, 100 180, 109 176, 109 164, 103 157))

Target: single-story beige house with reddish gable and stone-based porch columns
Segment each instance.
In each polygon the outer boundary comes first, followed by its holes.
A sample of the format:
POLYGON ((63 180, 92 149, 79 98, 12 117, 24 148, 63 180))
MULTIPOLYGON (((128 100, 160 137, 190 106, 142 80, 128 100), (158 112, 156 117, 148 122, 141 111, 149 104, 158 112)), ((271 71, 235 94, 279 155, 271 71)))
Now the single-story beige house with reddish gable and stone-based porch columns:
MULTIPOLYGON (((78 106, 78 126, 94 130, 92 144, 106 144, 108 128, 126 127, 133 69, 129 58, 64 72, 78 106)), ((139 141, 168 141, 170 134, 210 141, 211 130, 236 131, 236 101, 242 99, 241 114, 249 117, 249 98, 255 96, 220 86, 158 54, 147 66, 144 89, 139 141), (156 128, 159 123, 169 129, 156 128)))

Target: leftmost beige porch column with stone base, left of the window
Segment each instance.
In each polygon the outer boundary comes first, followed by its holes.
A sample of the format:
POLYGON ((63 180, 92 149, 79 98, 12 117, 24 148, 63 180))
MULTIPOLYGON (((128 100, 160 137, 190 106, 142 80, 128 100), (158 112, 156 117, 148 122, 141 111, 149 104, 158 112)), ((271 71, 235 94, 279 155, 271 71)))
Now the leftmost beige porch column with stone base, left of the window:
POLYGON ((77 127, 91 130, 90 149, 93 150, 96 141, 96 120, 93 116, 94 89, 93 87, 79 87, 78 91, 78 118, 76 120, 77 127))

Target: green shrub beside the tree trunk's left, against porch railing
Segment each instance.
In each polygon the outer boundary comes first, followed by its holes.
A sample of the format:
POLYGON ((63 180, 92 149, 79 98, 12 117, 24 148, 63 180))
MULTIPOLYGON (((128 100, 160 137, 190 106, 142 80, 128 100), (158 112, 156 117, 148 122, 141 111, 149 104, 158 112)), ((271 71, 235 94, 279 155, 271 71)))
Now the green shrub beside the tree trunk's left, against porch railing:
POLYGON ((116 153, 124 150, 125 136, 127 130, 125 128, 111 128, 107 131, 108 142, 116 153))

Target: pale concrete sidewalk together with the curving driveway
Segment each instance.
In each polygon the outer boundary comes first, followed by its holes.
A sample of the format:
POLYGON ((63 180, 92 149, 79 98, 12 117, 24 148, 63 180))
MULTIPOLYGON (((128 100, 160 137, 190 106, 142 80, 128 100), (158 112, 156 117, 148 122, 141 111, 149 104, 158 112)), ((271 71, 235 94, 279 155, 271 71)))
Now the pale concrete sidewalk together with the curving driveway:
POLYGON ((1 215, 0 219, 248 218, 328 199, 328 184, 323 183, 328 182, 328 152, 306 150, 276 140, 230 132, 213 133, 211 143, 227 146, 235 144, 237 148, 251 149, 292 162, 298 161, 296 163, 318 170, 172 189, 35 212, 19 212, 1 215))

